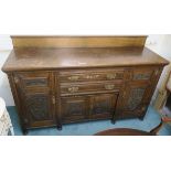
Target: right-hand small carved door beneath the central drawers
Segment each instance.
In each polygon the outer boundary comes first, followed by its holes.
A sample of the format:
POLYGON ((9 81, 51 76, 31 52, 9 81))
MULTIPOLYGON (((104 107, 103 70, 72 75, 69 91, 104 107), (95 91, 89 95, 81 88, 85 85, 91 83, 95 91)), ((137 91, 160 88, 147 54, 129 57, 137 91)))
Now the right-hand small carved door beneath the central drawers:
POLYGON ((111 118, 118 94, 99 94, 90 96, 90 119, 111 118))

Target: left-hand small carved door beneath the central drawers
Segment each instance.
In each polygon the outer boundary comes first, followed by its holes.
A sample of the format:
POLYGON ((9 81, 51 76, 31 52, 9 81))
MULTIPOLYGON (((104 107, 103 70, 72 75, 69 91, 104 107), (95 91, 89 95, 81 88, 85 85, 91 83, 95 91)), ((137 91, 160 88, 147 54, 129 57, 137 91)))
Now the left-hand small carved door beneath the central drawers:
POLYGON ((79 121, 87 118, 87 97, 71 96, 62 97, 62 120, 63 122, 79 121))

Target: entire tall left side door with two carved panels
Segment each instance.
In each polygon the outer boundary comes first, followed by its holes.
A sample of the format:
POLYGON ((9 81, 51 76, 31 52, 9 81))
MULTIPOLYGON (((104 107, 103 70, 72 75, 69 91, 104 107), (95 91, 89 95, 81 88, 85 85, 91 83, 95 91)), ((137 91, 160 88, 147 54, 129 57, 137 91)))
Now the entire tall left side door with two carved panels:
POLYGON ((14 79, 26 128, 55 125, 52 75, 18 73, 14 79))

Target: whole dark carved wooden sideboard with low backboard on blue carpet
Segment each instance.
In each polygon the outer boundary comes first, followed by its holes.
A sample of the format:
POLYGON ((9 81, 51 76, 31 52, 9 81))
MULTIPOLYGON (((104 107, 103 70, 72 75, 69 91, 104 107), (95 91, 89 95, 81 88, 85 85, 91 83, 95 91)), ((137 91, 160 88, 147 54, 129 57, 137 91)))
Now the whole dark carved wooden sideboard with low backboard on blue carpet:
POLYGON ((11 36, 8 74, 24 133, 98 119, 143 119, 164 65, 147 36, 11 36))

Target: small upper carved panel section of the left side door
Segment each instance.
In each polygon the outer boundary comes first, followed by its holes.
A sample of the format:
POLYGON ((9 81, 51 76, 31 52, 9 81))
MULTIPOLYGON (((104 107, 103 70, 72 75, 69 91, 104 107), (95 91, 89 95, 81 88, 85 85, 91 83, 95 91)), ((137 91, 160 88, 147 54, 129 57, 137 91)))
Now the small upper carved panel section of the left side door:
POLYGON ((14 82, 20 83, 23 88, 43 88, 49 87, 49 73, 17 73, 14 74, 14 82))

